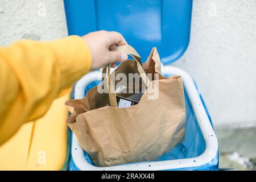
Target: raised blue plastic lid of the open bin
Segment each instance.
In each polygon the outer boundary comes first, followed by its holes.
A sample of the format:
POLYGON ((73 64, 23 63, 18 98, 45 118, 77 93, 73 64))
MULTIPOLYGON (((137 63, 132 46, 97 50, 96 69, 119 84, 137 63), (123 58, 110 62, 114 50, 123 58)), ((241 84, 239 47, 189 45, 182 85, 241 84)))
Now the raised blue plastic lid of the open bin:
POLYGON ((69 35, 118 31, 146 60, 157 47, 163 64, 189 43, 192 0, 64 0, 69 35))

